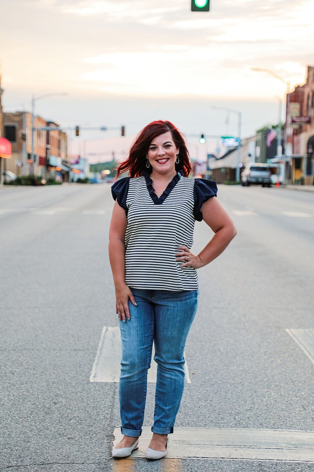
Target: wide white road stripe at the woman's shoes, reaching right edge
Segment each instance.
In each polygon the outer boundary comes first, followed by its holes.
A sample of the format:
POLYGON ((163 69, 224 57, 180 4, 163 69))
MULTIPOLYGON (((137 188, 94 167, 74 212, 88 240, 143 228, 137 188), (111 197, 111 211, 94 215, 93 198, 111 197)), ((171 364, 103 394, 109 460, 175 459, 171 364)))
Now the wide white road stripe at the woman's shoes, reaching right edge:
MULTIPOLYGON (((113 431, 113 445, 121 441, 120 428, 113 431)), ((131 459, 144 457, 152 432, 144 427, 139 448, 131 459)), ((167 458, 206 458, 314 462, 314 431, 220 428, 176 428, 169 435, 167 458)))

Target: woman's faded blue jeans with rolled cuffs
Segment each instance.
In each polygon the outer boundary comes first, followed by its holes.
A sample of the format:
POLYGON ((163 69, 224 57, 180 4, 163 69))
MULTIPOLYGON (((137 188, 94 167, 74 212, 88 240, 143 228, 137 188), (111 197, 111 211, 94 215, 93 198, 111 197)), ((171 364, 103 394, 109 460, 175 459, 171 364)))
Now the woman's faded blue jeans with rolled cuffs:
POLYGON ((142 433, 153 342, 157 383, 153 433, 173 432, 184 390, 184 348, 194 319, 198 290, 169 291, 131 288, 131 320, 120 321, 122 340, 119 386, 121 432, 136 438, 142 433))

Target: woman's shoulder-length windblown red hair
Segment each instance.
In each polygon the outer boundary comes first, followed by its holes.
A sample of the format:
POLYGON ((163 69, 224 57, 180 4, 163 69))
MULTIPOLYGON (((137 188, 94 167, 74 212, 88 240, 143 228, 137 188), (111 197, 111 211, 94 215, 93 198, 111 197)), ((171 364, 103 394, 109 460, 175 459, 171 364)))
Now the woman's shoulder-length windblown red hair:
POLYGON ((164 133, 170 131, 173 142, 179 148, 179 163, 176 164, 176 170, 183 171, 184 177, 188 177, 191 173, 192 167, 189 160, 189 152, 185 145, 185 140, 182 133, 170 121, 163 119, 152 121, 145 128, 142 129, 135 138, 134 143, 130 147, 129 155, 126 160, 121 162, 117 168, 117 177, 122 172, 129 171, 130 177, 140 177, 143 170, 146 172, 146 154, 152 140, 164 133))

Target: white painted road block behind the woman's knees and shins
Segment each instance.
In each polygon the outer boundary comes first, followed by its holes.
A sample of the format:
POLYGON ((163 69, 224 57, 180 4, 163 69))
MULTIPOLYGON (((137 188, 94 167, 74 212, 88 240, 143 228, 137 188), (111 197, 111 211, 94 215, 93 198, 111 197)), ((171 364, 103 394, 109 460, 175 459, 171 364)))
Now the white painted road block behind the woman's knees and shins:
MULTIPOLYGON (((157 379, 157 363, 153 360, 154 355, 153 346, 151 367, 147 372, 147 382, 153 383, 157 379)), ((104 326, 89 380, 91 382, 119 382, 121 357, 122 347, 119 327, 104 326)), ((186 362, 184 370, 186 383, 191 383, 186 362)))

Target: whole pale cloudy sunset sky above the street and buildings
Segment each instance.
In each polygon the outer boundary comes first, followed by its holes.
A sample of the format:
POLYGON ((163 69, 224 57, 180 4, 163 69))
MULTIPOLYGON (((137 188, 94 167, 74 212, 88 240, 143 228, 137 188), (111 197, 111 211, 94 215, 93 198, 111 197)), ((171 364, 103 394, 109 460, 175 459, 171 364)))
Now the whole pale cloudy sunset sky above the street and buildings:
MULTIPOLYGON (((129 137, 165 118, 191 143, 201 133, 237 135, 238 113, 213 106, 242 113, 242 137, 278 122, 286 85, 251 67, 304 83, 314 64, 313 0, 210 0, 210 12, 190 5, 0 0, 4 111, 30 110, 32 93, 66 92, 36 101, 36 113, 61 126, 124 125, 129 137)), ((118 135, 81 131, 71 152, 96 138, 110 152, 118 135)), ((217 146, 207 141, 207 151, 217 146)))

